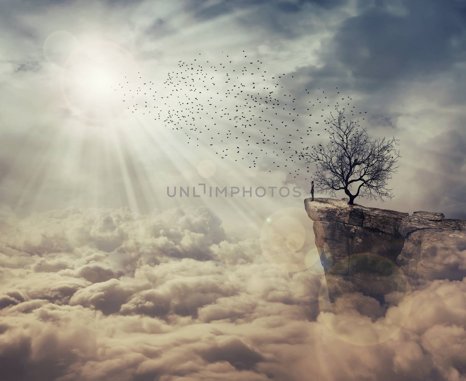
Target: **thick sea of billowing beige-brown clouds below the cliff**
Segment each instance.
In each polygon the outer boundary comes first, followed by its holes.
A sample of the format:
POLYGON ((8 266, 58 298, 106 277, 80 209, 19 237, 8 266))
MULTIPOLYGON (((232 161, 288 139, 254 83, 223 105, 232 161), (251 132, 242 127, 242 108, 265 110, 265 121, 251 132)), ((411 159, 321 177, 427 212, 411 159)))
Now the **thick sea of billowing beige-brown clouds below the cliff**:
POLYGON ((324 312, 322 277, 275 268, 253 241, 229 238, 206 208, 69 208, 10 221, 0 252, 15 246, 27 260, 12 268, 0 256, 4 380, 463 376, 466 279, 425 282, 384 308, 347 295, 324 312), (97 248, 102 238, 113 251, 97 248))

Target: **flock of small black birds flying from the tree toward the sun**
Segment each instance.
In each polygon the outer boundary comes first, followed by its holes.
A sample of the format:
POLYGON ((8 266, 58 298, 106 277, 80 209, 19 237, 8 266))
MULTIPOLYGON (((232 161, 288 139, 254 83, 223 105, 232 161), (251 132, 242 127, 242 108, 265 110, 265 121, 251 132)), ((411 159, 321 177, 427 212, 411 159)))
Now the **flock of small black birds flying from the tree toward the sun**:
POLYGON ((305 180, 309 167, 300 163, 299 152, 328 131, 330 111, 363 114, 348 107, 352 98, 340 95, 338 88, 326 93, 309 87, 292 95, 291 88, 301 85, 295 75, 271 74, 244 50, 222 56, 219 63, 201 59, 200 53, 180 60, 162 85, 139 73, 136 82, 130 81, 122 73, 114 91, 131 113, 163 123, 189 145, 212 149, 221 159, 249 168, 280 168, 293 177, 306 171, 305 180))

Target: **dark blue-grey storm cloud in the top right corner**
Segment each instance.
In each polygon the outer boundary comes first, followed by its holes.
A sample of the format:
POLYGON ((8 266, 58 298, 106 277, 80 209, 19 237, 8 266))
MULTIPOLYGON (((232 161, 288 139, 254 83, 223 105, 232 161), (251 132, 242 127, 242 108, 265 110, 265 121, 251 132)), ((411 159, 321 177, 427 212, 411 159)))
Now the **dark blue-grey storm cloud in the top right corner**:
POLYGON ((462 8, 452 1, 418 5, 377 1, 347 18, 322 49, 324 67, 311 69, 310 75, 331 80, 350 70, 357 88, 373 90, 393 80, 411 81, 452 68, 465 54, 462 8))

